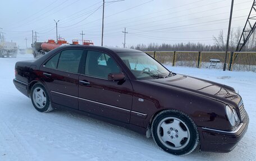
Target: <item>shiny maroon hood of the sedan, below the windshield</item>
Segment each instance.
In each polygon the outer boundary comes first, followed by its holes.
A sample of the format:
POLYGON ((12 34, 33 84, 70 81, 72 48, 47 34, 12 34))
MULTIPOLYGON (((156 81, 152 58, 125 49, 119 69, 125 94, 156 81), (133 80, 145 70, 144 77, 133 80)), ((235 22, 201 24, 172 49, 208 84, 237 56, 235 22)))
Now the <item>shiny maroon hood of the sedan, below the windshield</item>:
POLYGON ((176 74, 166 79, 147 80, 152 84, 179 88, 191 93, 200 94, 209 98, 217 99, 225 103, 239 104, 241 97, 235 93, 234 88, 216 82, 198 79, 195 77, 176 74))

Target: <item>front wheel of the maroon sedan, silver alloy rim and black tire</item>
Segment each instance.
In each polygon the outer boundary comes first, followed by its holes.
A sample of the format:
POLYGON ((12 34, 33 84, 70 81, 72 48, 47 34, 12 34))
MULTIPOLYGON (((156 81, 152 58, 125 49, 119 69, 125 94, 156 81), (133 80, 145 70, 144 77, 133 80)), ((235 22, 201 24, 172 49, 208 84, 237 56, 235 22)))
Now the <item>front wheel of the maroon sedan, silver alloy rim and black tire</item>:
POLYGON ((157 114, 151 130, 156 144, 171 154, 189 154, 199 144, 195 123, 185 113, 177 110, 166 110, 157 114))

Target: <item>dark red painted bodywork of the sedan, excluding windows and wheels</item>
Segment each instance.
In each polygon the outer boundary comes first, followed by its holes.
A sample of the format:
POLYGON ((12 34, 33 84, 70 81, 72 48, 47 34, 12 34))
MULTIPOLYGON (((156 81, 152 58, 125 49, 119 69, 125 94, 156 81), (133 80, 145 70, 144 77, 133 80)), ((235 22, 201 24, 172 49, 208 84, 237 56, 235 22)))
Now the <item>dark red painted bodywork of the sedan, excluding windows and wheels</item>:
POLYGON ((56 48, 35 61, 17 62, 13 82, 21 93, 29 97, 31 87, 41 82, 54 108, 68 108, 89 114, 144 135, 150 130, 152 119, 157 113, 176 109, 186 113, 196 123, 201 150, 227 152, 235 148, 246 132, 249 117, 246 113, 239 131, 228 133, 233 127, 226 118, 225 106, 232 105, 239 113, 238 104, 241 101, 241 96, 233 88, 179 74, 166 79, 136 80, 118 57, 118 52, 126 51, 138 52, 80 45, 56 48), (108 79, 99 79, 84 75, 81 72, 83 66, 80 66, 79 73, 44 67, 54 54, 65 49, 90 49, 107 53, 115 59, 124 75, 113 73, 108 79), (221 131, 206 130, 205 127, 221 131))

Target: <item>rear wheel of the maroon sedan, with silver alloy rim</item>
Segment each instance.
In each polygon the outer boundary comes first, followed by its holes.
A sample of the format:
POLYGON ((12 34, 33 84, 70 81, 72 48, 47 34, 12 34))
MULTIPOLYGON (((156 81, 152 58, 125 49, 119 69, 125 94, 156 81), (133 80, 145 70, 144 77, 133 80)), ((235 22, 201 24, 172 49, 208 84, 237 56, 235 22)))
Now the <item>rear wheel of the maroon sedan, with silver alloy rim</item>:
POLYGON ((31 101, 39 112, 53 111, 47 90, 40 83, 36 83, 31 89, 31 101))

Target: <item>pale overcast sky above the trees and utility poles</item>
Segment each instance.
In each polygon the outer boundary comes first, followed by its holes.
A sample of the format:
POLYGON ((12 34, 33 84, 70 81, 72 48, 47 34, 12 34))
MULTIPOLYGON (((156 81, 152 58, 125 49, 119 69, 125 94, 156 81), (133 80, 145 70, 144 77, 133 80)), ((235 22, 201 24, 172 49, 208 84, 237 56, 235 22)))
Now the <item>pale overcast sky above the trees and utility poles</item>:
MULTIPOLYGON (((112 1, 112 0, 109 0, 112 1)), ((126 46, 149 43, 200 42, 214 44, 212 36, 223 29, 227 35, 231 0, 125 0, 105 4, 103 45, 122 47, 126 27, 126 46)), ((116 1, 116 0, 113 0, 116 1)), ((253 0, 235 0, 232 26, 244 27, 253 0)), ((25 48, 31 44, 31 30, 38 41, 56 39, 58 34, 72 39, 92 40, 100 45, 102 0, 1 1, 0 31, 7 41, 25 48)))

